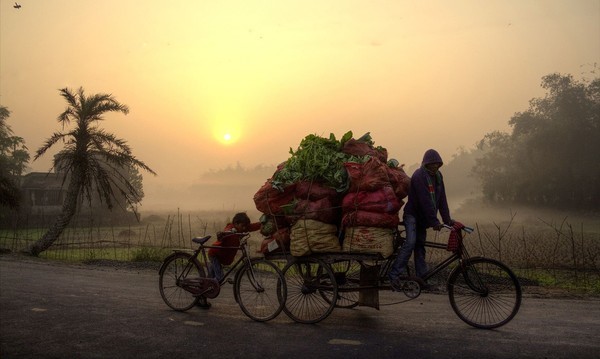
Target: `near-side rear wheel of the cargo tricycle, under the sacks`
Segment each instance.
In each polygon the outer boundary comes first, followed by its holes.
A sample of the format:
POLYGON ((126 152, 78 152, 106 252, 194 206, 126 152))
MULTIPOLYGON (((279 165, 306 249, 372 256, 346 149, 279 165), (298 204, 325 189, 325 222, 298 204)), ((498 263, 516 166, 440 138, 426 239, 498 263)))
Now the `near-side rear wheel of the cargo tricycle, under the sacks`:
POLYGON ((283 276, 287 284, 283 311, 290 318, 317 323, 331 314, 338 288, 329 265, 315 258, 298 258, 285 266, 283 276))

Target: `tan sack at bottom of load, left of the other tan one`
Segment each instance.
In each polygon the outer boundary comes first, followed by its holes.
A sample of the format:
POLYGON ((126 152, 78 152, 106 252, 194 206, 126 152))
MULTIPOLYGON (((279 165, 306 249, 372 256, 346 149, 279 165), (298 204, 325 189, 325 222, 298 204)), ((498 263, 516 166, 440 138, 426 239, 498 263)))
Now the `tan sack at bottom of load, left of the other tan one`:
POLYGON ((314 219, 301 219, 290 231, 290 253, 301 257, 315 253, 339 252, 337 227, 314 219))

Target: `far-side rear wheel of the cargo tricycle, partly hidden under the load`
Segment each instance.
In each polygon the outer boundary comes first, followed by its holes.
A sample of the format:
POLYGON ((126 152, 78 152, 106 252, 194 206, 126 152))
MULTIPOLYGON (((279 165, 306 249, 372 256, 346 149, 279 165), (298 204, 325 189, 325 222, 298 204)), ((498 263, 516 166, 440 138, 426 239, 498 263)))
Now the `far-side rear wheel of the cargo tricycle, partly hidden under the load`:
MULTIPOLYGON (((360 288, 360 262, 343 260, 331 264, 335 282, 338 287, 337 308, 354 308, 358 305, 358 290, 360 288)), ((323 298, 331 301, 328 295, 331 291, 320 291, 323 298)))

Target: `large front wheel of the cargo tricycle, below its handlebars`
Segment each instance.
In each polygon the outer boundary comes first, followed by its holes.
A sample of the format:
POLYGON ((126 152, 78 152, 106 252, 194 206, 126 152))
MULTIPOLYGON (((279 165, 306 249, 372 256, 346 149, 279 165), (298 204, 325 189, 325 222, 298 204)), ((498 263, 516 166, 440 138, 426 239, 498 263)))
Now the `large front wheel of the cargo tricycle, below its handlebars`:
POLYGON ((472 258, 448 278, 452 309, 465 323, 492 329, 508 323, 521 306, 521 285, 503 263, 472 258))

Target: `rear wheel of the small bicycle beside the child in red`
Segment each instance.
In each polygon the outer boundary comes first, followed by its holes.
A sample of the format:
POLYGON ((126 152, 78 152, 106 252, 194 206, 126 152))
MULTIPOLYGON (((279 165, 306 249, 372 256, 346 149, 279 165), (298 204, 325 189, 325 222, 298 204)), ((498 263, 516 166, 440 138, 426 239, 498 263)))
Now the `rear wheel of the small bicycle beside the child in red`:
POLYGON ((160 271, 158 285, 160 295, 165 303, 174 310, 186 311, 198 303, 200 297, 185 290, 180 283, 186 278, 206 277, 204 269, 198 262, 192 260, 187 253, 174 253, 163 262, 160 271))

